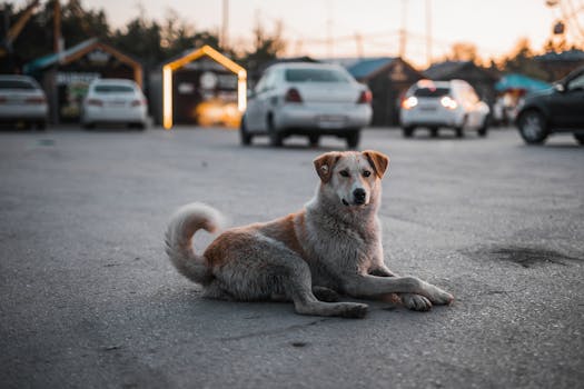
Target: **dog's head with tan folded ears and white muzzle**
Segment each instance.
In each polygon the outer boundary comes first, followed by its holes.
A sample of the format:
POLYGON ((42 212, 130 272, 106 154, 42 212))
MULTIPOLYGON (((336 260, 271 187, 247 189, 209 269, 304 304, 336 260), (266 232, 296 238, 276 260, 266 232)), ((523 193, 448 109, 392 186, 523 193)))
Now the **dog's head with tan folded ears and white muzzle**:
POLYGON ((389 158, 378 151, 333 151, 314 160, 321 191, 346 207, 366 207, 377 199, 389 158))

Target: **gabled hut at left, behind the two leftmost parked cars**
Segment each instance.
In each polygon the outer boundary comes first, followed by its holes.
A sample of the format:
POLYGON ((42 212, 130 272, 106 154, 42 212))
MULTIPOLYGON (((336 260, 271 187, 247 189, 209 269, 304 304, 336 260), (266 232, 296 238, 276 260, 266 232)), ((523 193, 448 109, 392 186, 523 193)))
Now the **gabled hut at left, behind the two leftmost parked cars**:
POLYGON ((97 39, 89 39, 62 52, 24 64, 47 93, 51 122, 79 120, 89 83, 97 78, 123 78, 142 86, 142 66, 137 60, 97 39))

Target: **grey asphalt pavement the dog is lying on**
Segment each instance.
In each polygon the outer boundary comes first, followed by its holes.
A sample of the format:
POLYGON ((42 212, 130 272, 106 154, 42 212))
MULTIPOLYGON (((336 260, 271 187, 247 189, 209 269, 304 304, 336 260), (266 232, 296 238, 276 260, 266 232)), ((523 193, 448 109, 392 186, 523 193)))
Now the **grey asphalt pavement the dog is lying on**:
MULTIPOLYGON (((177 128, 0 131, 1 388, 582 388, 584 148, 368 129, 390 157, 385 260, 452 292, 413 312, 299 316, 201 298, 164 253, 179 206, 231 226, 296 211, 323 139, 177 128)), ((200 233, 202 250, 212 237, 200 233)))

